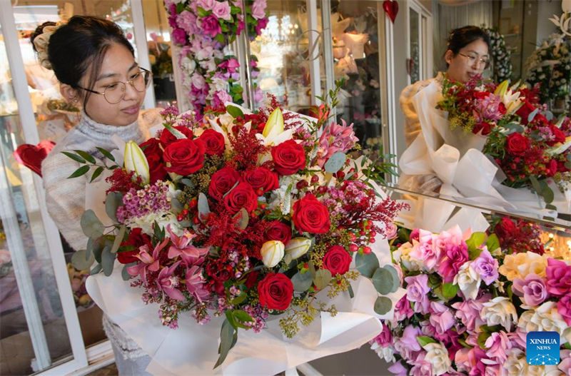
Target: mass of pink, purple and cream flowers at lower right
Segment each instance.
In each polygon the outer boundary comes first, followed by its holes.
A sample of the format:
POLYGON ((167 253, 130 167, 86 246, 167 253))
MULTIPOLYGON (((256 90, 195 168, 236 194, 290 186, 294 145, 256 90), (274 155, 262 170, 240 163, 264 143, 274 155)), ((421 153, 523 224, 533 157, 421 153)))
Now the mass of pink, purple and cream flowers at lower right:
POLYGON ((393 253, 407 295, 373 349, 398 375, 569 375, 571 265, 505 253, 495 235, 413 230, 393 253), (526 333, 560 334, 562 362, 525 355, 526 333))

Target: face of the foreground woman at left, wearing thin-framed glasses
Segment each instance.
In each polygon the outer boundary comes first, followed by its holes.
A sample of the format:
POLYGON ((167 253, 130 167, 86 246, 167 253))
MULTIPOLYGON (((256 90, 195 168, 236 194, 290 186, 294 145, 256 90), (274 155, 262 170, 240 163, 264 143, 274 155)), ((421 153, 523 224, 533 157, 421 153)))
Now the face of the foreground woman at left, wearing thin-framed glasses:
MULTIPOLYGON (((121 44, 112 44, 103 57, 101 70, 95 81, 94 91, 103 93, 106 88, 113 87, 119 81, 126 83, 140 71, 133 54, 121 44)), ((84 88, 89 87, 89 75, 79 82, 84 88)), ((121 86, 121 83, 118 83, 121 86)), ((84 91, 84 95, 87 93, 84 91)), ((138 112, 143 104, 145 91, 136 91, 129 83, 126 84, 125 95, 118 103, 109 103, 103 95, 89 93, 85 104, 87 115, 94 121, 110 126, 127 126, 138 118, 138 112)))

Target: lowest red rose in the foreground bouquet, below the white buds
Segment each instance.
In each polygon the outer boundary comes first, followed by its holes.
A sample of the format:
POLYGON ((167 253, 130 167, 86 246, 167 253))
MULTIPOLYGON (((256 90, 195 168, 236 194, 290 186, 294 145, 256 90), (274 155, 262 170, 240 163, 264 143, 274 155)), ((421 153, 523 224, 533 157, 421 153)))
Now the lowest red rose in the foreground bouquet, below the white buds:
POLYGON ((286 310, 293 296, 293 284, 282 273, 269 273, 258 283, 260 304, 270 310, 286 310))

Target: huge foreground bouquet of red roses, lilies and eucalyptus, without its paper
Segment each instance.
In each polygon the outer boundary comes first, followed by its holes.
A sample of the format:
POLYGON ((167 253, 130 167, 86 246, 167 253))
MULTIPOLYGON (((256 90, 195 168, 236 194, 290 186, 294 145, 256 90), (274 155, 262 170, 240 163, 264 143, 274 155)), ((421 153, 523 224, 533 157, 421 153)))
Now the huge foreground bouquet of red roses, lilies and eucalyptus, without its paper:
MULTIPOLYGON (((258 113, 228 105, 203 121, 167 108, 156 137, 129 141, 123 166, 110 163, 111 223, 104 228, 87 210, 89 243, 74 260, 94 259, 91 273, 105 275, 115 260, 123 264, 124 278, 168 327, 181 315, 201 324, 225 317, 216 365, 238 328, 260 331, 268 315, 283 313, 287 337, 318 313, 335 315, 316 298, 320 290, 333 298, 364 275, 380 294, 395 292, 395 268, 380 268, 372 248, 403 204, 380 197, 364 175, 373 164, 345 154, 357 146, 352 126, 318 115, 283 113, 275 101, 258 113)), ((67 155, 87 163, 72 176, 97 165, 93 180, 105 169, 82 151, 67 155)), ((391 308, 378 297, 376 313, 391 308)))

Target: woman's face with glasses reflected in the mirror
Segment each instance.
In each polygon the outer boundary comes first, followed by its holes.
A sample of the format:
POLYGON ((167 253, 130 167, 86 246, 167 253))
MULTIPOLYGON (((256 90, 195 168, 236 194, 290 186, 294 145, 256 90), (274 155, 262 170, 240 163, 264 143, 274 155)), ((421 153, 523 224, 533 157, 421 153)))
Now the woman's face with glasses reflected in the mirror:
POLYGON ((485 61, 490 59, 487 55, 487 44, 482 39, 477 39, 464 46, 458 54, 448 50, 444 56, 448 63, 448 77, 453 81, 468 82, 477 74, 482 74, 485 61))

